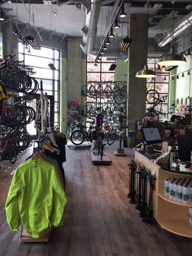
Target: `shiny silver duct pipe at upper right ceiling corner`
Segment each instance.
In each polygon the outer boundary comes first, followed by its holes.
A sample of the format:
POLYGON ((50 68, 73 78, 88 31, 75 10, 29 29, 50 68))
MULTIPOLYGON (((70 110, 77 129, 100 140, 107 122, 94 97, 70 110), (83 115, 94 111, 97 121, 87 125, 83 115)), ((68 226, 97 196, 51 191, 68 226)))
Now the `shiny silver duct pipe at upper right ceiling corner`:
POLYGON ((184 19, 180 20, 173 29, 170 29, 166 35, 157 39, 159 47, 163 47, 172 41, 173 37, 180 35, 184 30, 188 29, 192 25, 192 12, 190 12, 184 19), (173 32, 174 31, 174 32, 173 32))

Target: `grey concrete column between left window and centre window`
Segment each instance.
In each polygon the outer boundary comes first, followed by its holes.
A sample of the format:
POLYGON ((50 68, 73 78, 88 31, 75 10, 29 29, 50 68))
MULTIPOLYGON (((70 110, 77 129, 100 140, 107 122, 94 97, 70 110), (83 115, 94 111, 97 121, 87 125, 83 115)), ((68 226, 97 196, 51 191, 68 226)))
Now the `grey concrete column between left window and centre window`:
POLYGON ((67 97, 81 99, 82 87, 82 51, 81 39, 67 41, 67 97))

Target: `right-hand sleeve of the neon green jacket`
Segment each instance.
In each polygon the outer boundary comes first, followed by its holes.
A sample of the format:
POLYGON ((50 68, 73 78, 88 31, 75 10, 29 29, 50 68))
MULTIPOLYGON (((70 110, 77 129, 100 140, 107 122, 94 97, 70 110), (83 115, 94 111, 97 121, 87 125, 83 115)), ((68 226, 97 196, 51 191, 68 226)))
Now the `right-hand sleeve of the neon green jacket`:
POLYGON ((67 197, 65 196, 65 191, 55 168, 52 172, 52 191, 54 202, 52 206, 51 224, 54 227, 58 227, 63 225, 63 213, 67 204, 67 197))

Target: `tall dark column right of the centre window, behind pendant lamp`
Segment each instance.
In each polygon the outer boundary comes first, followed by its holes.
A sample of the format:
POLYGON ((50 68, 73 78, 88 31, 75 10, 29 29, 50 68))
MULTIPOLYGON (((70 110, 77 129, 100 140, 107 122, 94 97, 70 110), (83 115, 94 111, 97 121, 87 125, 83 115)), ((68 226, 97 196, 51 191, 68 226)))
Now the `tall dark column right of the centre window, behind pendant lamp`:
POLYGON ((127 121, 130 129, 134 129, 135 120, 145 116, 146 79, 135 77, 136 72, 147 63, 147 14, 131 13, 128 77, 127 77, 127 121))

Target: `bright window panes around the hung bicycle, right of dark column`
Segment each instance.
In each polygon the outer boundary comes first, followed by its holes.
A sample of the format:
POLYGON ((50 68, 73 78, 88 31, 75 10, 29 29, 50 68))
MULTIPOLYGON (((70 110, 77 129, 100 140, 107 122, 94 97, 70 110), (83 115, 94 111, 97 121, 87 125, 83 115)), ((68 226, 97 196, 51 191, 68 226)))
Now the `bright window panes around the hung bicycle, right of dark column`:
MULTIPOLYGON (((164 102, 161 104, 157 104, 155 109, 157 111, 161 111, 165 115, 159 113, 159 120, 163 120, 168 118, 168 98, 169 98, 169 83, 170 83, 170 73, 164 70, 164 67, 159 67, 157 65, 156 58, 148 59, 148 68, 156 71, 156 77, 147 79, 147 91, 148 90, 156 90, 159 93, 159 98, 163 99, 164 102)), ((150 97, 150 94, 148 94, 150 97)), ((146 111, 148 108, 154 105, 154 93, 151 93, 151 104, 146 101, 146 111)))

